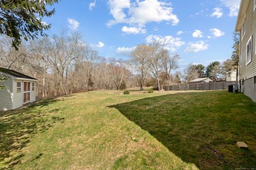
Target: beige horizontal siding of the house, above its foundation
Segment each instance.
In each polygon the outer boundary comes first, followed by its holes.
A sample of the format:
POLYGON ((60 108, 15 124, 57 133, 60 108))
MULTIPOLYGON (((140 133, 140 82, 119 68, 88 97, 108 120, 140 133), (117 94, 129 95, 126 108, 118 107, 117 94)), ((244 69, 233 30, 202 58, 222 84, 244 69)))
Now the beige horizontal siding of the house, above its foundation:
POLYGON ((246 11, 246 33, 242 39, 240 37, 240 55, 241 66, 239 67, 239 79, 249 79, 256 76, 256 10, 253 10, 253 0, 250 1, 248 9, 246 11), (246 66, 246 44, 252 36, 252 60, 246 66))

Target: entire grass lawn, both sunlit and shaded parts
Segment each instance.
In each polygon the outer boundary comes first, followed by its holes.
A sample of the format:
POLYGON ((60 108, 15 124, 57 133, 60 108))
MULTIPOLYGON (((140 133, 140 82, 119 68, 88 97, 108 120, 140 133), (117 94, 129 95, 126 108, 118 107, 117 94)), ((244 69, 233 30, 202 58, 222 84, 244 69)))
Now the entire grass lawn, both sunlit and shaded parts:
POLYGON ((171 93, 94 91, 2 112, 0 169, 256 168, 256 103, 171 93))

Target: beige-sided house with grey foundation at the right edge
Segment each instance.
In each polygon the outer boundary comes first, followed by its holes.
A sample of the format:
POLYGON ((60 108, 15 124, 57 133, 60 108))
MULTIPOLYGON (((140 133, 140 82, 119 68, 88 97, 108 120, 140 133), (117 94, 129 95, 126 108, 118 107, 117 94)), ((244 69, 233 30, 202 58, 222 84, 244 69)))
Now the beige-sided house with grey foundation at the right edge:
POLYGON ((239 89, 256 102, 256 1, 242 0, 236 22, 240 32, 239 89))

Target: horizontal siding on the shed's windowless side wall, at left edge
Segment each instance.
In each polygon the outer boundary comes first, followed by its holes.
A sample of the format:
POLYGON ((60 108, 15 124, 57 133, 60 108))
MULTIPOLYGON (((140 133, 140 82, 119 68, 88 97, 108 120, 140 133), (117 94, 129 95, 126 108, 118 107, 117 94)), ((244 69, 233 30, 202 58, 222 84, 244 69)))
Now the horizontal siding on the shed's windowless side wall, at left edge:
MULTIPOLYGON (((0 73, 0 77, 3 77, 0 73)), ((9 77, 4 82, 0 81, 0 85, 5 86, 4 89, 0 90, 0 110, 11 110, 12 109, 12 79, 9 77)))

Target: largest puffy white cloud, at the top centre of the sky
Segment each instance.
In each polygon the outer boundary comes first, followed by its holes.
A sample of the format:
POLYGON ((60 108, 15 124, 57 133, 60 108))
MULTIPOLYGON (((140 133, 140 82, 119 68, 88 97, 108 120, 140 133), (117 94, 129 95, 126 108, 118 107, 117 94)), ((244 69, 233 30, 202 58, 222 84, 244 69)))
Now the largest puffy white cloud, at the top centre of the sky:
POLYGON ((109 0, 109 7, 114 19, 108 21, 107 26, 117 23, 145 26, 148 22, 161 21, 170 21, 172 25, 179 23, 177 15, 172 13, 171 3, 158 0, 135 1, 132 4, 130 0, 109 0))

